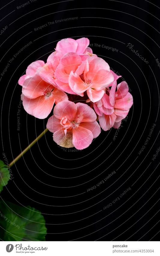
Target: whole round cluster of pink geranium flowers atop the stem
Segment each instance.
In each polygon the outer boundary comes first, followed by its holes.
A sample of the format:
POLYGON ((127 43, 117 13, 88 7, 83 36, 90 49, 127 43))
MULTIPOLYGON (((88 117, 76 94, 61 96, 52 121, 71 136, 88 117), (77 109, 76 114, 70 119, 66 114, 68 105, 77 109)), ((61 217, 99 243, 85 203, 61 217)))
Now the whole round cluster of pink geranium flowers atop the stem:
POLYGON ((120 76, 88 45, 84 37, 62 39, 46 63, 32 62, 18 81, 26 112, 44 119, 56 104, 47 128, 58 145, 79 150, 88 147, 101 128, 119 128, 133 104, 127 83, 117 85, 120 76))

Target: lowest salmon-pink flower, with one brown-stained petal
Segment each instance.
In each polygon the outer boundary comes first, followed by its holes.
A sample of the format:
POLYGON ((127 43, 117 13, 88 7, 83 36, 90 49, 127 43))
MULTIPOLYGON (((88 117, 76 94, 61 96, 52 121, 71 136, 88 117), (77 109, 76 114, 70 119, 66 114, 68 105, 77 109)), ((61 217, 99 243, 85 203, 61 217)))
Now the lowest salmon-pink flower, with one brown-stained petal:
POLYGON ((61 147, 81 150, 88 147, 101 132, 96 118, 94 110, 88 105, 62 101, 54 107, 47 128, 53 132, 53 141, 61 147))

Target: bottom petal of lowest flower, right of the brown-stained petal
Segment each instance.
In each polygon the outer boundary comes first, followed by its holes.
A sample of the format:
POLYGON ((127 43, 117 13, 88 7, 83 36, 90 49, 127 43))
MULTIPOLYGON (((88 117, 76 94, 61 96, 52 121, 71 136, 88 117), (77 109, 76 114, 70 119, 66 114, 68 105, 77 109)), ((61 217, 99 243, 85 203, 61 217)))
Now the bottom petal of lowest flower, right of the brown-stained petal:
POLYGON ((90 130, 81 127, 73 128, 73 145, 76 149, 84 149, 92 143, 93 134, 90 130))

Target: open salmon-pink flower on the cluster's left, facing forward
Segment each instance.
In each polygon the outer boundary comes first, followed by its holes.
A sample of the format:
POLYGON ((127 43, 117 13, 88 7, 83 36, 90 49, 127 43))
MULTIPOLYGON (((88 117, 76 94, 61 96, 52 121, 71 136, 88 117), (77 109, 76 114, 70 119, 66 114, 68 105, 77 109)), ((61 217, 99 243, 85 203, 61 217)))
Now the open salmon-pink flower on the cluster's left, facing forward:
POLYGON ((68 100, 63 91, 42 80, 38 74, 24 81, 22 93, 24 109, 39 119, 44 119, 50 114, 54 103, 68 100))

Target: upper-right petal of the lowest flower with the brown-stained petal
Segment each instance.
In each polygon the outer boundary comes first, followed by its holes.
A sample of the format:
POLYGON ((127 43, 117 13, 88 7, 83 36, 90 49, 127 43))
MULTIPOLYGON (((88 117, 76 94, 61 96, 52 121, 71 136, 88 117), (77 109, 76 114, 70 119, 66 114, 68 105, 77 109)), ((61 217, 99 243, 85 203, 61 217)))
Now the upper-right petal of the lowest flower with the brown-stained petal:
POLYGON ((94 110, 84 103, 76 103, 77 113, 75 116, 75 121, 79 122, 94 122, 97 119, 97 116, 94 110))

